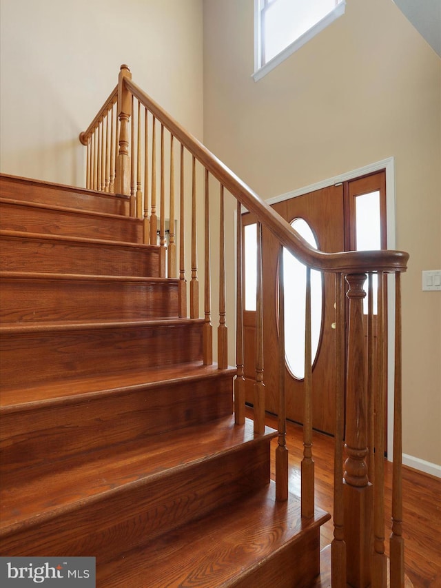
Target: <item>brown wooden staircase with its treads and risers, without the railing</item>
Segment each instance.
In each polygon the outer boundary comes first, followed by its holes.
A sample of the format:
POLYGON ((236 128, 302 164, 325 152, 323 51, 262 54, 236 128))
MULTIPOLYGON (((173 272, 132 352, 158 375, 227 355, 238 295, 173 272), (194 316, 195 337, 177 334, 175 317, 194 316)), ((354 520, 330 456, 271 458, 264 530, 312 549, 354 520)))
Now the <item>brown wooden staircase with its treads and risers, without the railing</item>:
POLYGON ((294 588, 319 529, 235 424, 236 369, 130 197, 0 176, 2 556, 95 556, 96 586, 294 588))

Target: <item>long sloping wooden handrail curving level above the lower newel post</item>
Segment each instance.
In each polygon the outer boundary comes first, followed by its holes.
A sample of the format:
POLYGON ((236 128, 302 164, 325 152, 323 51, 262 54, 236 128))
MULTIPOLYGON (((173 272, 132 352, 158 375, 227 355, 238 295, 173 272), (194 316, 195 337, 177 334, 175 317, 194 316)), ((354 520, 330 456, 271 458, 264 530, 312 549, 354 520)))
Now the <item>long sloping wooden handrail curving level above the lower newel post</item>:
POLYGON ((297 256, 302 263, 311 269, 323 272, 405 272, 409 254, 401 251, 348 251, 339 253, 325 253, 314 249, 271 208, 249 186, 241 181, 232 170, 217 159, 205 145, 196 137, 189 134, 172 116, 165 112, 158 103, 145 94, 131 79, 124 79, 130 92, 146 107, 161 123, 180 141, 196 159, 212 173, 212 175, 250 212, 258 216, 280 241, 281 245, 297 256))

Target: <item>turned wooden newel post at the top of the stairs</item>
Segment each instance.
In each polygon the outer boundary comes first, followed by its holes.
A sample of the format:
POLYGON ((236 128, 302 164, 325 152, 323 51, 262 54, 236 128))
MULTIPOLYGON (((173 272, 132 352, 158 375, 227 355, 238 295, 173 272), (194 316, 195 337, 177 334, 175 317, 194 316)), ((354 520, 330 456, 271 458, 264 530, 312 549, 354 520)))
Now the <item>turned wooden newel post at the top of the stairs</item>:
POLYGON ((132 97, 125 88, 124 78, 132 79, 127 65, 121 65, 118 78, 119 150, 116 158, 115 193, 130 194, 129 121, 132 97))

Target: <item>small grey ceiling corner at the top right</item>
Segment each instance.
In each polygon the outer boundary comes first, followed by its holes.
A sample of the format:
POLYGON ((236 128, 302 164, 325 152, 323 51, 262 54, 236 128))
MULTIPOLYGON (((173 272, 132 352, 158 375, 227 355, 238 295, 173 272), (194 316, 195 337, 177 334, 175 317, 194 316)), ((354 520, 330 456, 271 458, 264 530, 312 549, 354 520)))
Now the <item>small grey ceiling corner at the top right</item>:
POLYGON ((441 0, 393 0, 441 57, 441 0))

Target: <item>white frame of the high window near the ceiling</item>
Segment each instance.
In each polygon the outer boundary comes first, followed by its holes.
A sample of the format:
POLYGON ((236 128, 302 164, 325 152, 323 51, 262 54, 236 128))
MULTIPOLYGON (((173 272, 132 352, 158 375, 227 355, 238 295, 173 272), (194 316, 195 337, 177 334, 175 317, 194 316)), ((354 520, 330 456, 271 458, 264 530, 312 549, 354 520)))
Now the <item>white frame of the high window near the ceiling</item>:
POLYGON ((264 65, 261 63, 262 59, 262 28, 260 26, 261 0, 254 0, 254 74, 252 77, 254 81, 262 79, 266 74, 274 70, 277 65, 280 65, 287 57, 296 52, 307 41, 316 36, 319 32, 327 28, 338 17, 345 14, 346 0, 341 0, 331 12, 325 15, 318 23, 312 26, 309 30, 304 32, 300 37, 288 45, 283 51, 280 51, 275 57, 267 61, 264 65))

